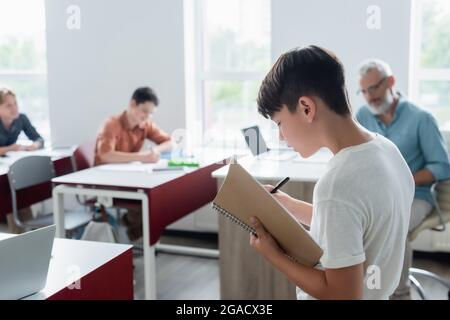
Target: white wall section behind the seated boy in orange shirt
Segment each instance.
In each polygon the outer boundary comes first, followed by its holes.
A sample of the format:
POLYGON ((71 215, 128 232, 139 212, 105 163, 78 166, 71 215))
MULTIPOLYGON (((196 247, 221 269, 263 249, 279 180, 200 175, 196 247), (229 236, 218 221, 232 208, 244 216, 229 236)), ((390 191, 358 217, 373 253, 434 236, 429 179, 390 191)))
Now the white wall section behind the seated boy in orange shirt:
POLYGON ((143 85, 160 98, 158 124, 185 127, 182 0, 47 0, 46 16, 53 145, 95 139, 143 85), (70 5, 80 30, 66 26, 70 5))

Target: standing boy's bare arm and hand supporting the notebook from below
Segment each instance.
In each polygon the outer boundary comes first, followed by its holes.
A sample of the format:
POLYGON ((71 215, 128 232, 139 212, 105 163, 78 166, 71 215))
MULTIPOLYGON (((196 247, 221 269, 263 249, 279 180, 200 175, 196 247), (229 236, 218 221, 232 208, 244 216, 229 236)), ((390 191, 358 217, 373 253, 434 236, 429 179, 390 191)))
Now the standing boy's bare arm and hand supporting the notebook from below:
POLYGON ((250 244, 292 282, 317 299, 361 299, 363 294, 363 263, 340 269, 317 270, 291 261, 272 236, 255 218, 257 236, 250 244))

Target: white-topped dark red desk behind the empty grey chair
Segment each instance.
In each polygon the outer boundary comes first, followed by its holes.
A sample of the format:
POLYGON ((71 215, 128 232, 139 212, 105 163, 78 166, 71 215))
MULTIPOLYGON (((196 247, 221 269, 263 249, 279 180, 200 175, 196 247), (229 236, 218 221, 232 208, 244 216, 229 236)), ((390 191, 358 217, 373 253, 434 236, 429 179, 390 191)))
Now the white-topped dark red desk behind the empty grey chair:
MULTIPOLYGON (((12 212, 11 189, 8 181, 9 166, 19 158, 33 155, 50 156, 55 166, 56 175, 72 172, 72 149, 43 149, 36 151, 8 152, 6 157, 0 158, 0 220, 12 212)), ((49 184, 25 188, 17 192, 18 208, 26 208, 37 202, 51 197, 49 184)))

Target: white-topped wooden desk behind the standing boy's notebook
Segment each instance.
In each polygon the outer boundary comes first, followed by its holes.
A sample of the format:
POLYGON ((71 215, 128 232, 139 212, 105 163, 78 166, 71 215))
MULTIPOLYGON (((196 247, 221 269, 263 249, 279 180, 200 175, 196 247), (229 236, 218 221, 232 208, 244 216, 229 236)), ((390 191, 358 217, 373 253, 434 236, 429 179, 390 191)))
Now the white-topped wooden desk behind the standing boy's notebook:
MULTIPOLYGON (((325 173, 331 156, 320 151, 306 160, 268 161, 250 156, 238 162, 262 184, 275 185, 290 177, 281 190, 312 202, 314 185, 325 173)), ((213 172, 218 187, 227 172, 228 166, 213 172)), ((222 215, 219 215, 219 250, 221 299, 295 299, 295 286, 250 247, 246 231, 222 215)))

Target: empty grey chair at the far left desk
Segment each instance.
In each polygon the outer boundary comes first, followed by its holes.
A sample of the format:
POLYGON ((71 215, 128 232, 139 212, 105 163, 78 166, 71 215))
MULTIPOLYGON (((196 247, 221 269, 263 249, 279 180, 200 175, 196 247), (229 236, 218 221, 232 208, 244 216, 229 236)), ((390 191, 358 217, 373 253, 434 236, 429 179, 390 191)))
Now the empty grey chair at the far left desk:
MULTIPOLYGON (((55 176, 55 169, 50 157, 29 156, 14 162, 8 171, 8 180, 11 189, 14 222, 25 231, 38 229, 53 224, 53 214, 39 215, 27 221, 21 221, 18 215, 17 192, 41 185, 49 188, 51 194, 51 179, 55 176)), ((92 214, 88 212, 66 212, 65 229, 68 233, 88 224, 92 214)))

